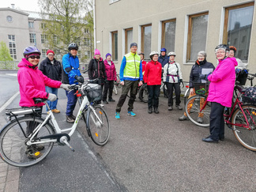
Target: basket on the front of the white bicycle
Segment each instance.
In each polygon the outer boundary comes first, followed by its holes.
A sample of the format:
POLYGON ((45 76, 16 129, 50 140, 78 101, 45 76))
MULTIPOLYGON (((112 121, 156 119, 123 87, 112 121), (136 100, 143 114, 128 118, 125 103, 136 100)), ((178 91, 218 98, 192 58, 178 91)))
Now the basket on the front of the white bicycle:
POLYGON ((85 87, 85 95, 87 96, 89 102, 100 101, 102 96, 101 85, 88 84, 85 87))

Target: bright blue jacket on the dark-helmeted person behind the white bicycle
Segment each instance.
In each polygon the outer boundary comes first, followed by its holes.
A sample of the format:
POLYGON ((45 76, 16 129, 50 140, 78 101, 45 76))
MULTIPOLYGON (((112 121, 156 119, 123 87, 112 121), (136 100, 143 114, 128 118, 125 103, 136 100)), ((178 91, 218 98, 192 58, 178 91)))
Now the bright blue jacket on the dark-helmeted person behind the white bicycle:
POLYGON ((62 57, 62 66, 64 70, 64 73, 62 75, 62 83, 72 85, 74 83, 73 81, 76 80, 74 77, 76 75, 81 76, 81 73, 79 70, 78 57, 76 56, 75 58, 73 58, 73 56, 70 53, 64 55, 62 57))

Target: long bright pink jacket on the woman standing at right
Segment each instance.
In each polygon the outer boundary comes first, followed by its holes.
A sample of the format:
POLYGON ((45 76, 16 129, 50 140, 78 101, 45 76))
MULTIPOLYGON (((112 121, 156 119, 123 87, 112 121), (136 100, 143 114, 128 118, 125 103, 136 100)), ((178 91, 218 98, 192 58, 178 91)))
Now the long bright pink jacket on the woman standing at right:
POLYGON ((224 107, 232 106, 235 87, 235 66, 237 66, 235 58, 219 60, 218 66, 208 77, 208 80, 211 81, 208 101, 219 103, 224 107))

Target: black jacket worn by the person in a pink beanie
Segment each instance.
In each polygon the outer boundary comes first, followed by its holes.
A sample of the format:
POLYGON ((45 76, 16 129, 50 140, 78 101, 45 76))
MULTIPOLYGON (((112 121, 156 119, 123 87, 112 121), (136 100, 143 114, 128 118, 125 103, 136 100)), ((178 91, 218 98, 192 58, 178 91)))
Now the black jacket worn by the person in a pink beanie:
POLYGON ((105 64, 102 58, 100 58, 100 60, 96 60, 96 58, 92 58, 92 60, 89 62, 88 77, 90 80, 96 79, 98 77, 107 79, 105 64))

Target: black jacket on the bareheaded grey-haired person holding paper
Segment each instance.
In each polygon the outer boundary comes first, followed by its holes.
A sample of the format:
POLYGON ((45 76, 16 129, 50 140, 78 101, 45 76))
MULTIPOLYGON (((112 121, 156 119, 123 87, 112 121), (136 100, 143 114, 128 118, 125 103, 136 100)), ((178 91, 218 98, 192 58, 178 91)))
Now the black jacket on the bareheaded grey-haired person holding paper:
POLYGON ((215 70, 215 66, 213 66, 212 62, 207 62, 206 59, 202 62, 198 62, 197 60, 190 71, 190 88, 194 87, 193 81, 198 81, 199 75, 201 74, 201 69, 203 68, 212 68, 213 70, 215 70))

